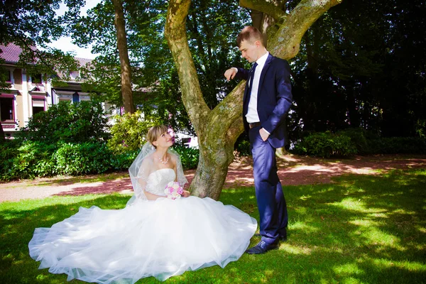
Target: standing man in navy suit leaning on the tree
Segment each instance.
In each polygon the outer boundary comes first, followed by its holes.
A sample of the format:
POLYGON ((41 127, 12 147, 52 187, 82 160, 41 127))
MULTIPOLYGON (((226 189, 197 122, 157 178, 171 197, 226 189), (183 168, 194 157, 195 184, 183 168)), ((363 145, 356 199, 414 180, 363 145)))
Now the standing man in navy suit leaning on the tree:
POLYGON ((288 214, 283 188, 277 174, 276 148, 287 143, 285 117, 292 105, 290 67, 275 58, 263 45, 262 33, 245 27, 236 38, 243 58, 254 62, 250 70, 232 67, 226 80, 246 80, 243 99, 244 129, 249 134, 253 155, 256 200, 261 217, 261 241, 248 249, 251 254, 278 249, 287 239, 288 214))

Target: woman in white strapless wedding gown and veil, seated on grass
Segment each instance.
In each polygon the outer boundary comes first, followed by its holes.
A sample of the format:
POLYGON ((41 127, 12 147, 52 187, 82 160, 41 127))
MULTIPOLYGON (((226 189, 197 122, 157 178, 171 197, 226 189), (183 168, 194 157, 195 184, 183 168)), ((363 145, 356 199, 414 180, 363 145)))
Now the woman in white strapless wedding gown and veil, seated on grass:
POLYGON ((148 131, 129 173, 135 194, 124 209, 80 207, 50 228, 37 228, 30 256, 50 273, 94 283, 165 280, 208 266, 222 268, 244 253, 256 220, 232 205, 181 192, 165 196, 169 182, 187 182, 166 126, 148 131))

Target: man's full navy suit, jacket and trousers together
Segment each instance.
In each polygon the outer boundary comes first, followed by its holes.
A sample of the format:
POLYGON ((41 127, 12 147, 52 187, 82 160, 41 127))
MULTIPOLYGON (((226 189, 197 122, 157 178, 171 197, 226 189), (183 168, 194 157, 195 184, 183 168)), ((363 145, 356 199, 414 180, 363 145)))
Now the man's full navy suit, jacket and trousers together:
MULTIPOLYGON (((249 70, 237 68, 236 78, 249 79, 249 70)), ((290 67, 288 62, 268 55, 258 81, 257 112, 260 125, 249 124, 246 114, 249 108, 251 89, 246 83, 243 101, 244 128, 249 133, 253 154, 253 176, 256 199, 261 217, 262 240, 272 244, 280 236, 286 236, 288 224, 287 206, 277 175, 276 148, 287 143, 285 116, 292 105, 290 67), (263 141, 259 130, 271 135, 263 141)))

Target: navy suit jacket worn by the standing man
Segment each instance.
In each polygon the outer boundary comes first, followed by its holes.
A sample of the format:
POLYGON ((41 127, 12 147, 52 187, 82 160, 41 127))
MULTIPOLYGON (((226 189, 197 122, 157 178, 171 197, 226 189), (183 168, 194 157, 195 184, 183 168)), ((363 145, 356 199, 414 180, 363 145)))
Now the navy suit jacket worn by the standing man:
MULTIPOLYGON (((249 70, 237 68, 236 78, 247 80, 249 70)), ((246 114, 249 109, 249 84, 246 84, 243 99, 244 129, 249 132, 246 114)), ((290 82, 290 66, 286 60, 269 54, 261 72, 258 87, 257 111, 263 129, 271 135, 268 142, 274 148, 281 148, 288 143, 285 117, 293 103, 290 82)))

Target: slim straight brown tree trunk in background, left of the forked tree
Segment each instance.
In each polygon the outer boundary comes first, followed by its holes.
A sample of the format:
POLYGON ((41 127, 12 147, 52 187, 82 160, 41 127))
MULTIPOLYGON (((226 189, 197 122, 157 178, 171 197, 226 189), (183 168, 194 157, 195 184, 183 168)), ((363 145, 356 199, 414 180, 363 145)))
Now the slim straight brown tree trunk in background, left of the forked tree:
POLYGON ((114 4, 115 20, 114 26, 117 31, 117 48, 121 65, 121 96, 123 97, 124 111, 133 114, 133 94, 131 91, 131 69, 129 53, 127 51, 126 22, 124 21, 124 9, 122 0, 112 0, 114 4))

